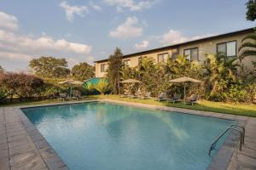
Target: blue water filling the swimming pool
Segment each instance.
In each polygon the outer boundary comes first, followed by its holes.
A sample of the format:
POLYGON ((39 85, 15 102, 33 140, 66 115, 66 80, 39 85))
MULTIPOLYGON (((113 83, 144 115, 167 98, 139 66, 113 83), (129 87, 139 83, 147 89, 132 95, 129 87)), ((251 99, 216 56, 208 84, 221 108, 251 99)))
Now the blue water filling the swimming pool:
POLYGON ((72 170, 200 170, 232 122, 109 103, 23 110, 72 170))

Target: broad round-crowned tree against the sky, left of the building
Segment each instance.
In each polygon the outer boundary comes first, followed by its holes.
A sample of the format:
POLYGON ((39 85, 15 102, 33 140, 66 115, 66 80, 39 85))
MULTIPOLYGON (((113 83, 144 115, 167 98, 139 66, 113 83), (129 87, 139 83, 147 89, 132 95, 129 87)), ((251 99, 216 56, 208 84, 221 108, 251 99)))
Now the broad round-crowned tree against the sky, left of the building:
POLYGON ((32 59, 29 66, 35 71, 38 77, 60 78, 69 75, 66 59, 56 59, 54 57, 40 57, 32 59))

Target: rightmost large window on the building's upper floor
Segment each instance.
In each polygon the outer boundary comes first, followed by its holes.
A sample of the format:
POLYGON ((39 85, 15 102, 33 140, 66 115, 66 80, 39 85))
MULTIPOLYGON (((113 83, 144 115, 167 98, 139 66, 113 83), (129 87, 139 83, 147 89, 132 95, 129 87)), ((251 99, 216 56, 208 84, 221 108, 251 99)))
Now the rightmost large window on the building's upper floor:
POLYGON ((225 54, 227 57, 236 56, 236 41, 218 43, 217 53, 225 54))

